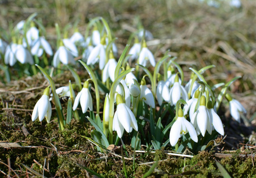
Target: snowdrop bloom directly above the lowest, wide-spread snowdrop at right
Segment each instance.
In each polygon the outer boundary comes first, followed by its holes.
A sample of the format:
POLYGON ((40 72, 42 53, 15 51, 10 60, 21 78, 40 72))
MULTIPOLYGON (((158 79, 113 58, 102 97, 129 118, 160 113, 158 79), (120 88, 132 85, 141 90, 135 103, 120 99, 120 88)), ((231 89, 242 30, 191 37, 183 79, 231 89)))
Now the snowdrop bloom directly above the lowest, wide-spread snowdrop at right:
POLYGON ((170 93, 169 93, 169 102, 170 105, 176 106, 177 101, 182 98, 185 101, 188 101, 188 94, 187 91, 185 90, 185 88, 179 83, 179 77, 178 74, 175 77, 175 82, 173 84, 173 87, 170 89, 170 93))

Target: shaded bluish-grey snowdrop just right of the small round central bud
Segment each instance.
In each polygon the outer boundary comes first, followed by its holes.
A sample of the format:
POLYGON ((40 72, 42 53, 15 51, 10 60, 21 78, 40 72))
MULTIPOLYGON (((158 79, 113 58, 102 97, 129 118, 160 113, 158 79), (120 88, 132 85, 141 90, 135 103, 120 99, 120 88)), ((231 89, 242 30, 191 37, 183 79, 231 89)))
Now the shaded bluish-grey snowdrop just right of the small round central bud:
POLYGON ((155 107, 154 96, 146 85, 146 80, 143 78, 140 85, 140 99, 143 100, 148 106, 155 107))

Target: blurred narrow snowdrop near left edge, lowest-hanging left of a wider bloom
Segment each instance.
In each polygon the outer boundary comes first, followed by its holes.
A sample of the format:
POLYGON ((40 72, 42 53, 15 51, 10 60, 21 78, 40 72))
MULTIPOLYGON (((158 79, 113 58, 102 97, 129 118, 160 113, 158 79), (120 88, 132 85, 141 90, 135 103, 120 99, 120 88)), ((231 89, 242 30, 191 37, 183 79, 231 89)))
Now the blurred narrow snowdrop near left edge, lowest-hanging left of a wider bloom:
POLYGON ((14 64, 17 62, 17 59, 15 58, 16 48, 17 48, 17 43, 15 42, 7 46, 5 50, 5 56, 4 56, 5 64, 10 64, 10 66, 14 66, 14 64))

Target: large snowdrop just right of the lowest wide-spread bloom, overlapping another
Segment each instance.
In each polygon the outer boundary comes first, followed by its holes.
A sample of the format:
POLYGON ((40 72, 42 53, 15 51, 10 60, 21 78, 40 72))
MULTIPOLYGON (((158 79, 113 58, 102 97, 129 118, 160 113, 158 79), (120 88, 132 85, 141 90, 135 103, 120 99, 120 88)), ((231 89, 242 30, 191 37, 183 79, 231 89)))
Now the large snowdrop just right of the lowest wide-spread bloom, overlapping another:
POLYGON ((206 130, 211 134, 212 131, 212 118, 209 116, 206 108, 206 97, 200 97, 200 106, 191 118, 191 123, 197 131, 197 135, 200 133, 204 136, 206 130))

